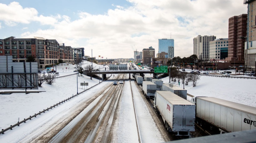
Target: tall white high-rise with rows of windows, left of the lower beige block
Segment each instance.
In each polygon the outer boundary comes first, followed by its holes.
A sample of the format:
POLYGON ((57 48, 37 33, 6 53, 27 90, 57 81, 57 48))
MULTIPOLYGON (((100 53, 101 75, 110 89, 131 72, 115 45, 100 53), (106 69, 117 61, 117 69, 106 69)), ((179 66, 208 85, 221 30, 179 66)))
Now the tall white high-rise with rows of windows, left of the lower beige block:
POLYGON ((198 35, 193 39, 193 54, 197 55, 199 59, 209 59, 209 42, 216 39, 216 36, 201 36, 198 35))

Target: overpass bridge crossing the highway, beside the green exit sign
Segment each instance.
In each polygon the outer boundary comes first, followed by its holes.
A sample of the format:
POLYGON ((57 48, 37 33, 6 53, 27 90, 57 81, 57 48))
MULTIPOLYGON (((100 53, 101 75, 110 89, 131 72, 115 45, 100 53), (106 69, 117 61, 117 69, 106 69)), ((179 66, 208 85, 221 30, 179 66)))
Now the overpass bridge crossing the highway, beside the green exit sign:
MULTIPOLYGON (((93 75, 98 75, 98 74, 102 74, 102 80, 106 79, 106 75, 107 74, 129 74, 129 79, 131 79, 131 74, 144 74, 144 73, 152 73, 153 77, 156 77, 157 74, 161 74, 161 73, 154 73, 154 71, 150 71, 150 70, 106 70, 106 71, 93 71, 92 74, 93 75)), ((85 75, 89 75, 89 72, 84 72, 83 74, 85 75)))

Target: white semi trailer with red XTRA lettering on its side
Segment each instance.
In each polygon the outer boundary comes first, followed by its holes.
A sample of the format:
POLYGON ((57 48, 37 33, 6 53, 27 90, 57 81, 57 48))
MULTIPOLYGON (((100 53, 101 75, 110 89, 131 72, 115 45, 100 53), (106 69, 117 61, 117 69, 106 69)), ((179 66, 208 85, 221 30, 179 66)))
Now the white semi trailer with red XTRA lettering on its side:
POLYGON ((190 136, 195 131, 195 104, 171 91, 156 91, 154 108, 162 116, 168 132, 176 136, 190 136))

